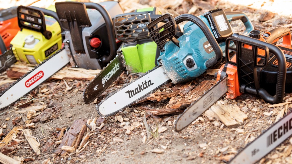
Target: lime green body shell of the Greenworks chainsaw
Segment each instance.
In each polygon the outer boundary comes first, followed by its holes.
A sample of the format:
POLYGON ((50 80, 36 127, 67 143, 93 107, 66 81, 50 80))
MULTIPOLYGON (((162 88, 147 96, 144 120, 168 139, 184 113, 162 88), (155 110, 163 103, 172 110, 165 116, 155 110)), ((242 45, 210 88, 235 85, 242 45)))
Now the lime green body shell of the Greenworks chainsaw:
POLYGON ((150 38, 124 43, 121 47, 126 68, 131 73, 147 72, 155 67, 155 57, 159 53, 157 45, 150 38))

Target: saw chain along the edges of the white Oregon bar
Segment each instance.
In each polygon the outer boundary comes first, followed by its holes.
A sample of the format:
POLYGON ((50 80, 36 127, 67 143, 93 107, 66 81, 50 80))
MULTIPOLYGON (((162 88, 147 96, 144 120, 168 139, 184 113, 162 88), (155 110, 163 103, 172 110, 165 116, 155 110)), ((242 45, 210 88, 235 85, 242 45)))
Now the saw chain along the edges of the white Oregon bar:
MULTIPOLYGON (((51 55, 50 57, 48 57, 46 60, 44 60, 42 63, 40 63, 40 64, 38 64, 38 65, 36 65, 35 67, 34 67, 34 69, 32 69, 31 71, 29 71, 29 72, 27 72, 25 75, 23 75, 22 77, 20 77, 17 81, 15 81, 15 82, 13 82, 8 88, 6 88, 5 90, 3 90, 1 93, 0 93, 0 97, 7 91, 7 90, 9 90, 11 87, 13 87, 16 83, 18 83, 20 80, 22 80, 25 76, 27 76, 27 75, 29 75, 32 71, 34 71, 35 69, 37 69, 38 67, 40 67, 43 63, 45 63, 46 61, 48 61, 49 59, 51 59, 52 57, 54 57, 55 55, 57 55, 59 52, 61 52, 62 50, 64 50, 65 48, 62 48, 62 49, 60 49, 60 50, 58 50, 56 53, 54 53, 53 55, 51 55)), ((65 66, 64 66, 65 67, 65 66)), ((63 68, 63 67, 62 67, 63 68)), ((62 68, 60 68, 60 69, 62 69, 62 68)), ((60 69, 59 69, 59 71, 60 71, 60 69)), ((57 71, 58 72, 58 71, 57 71)), ((50 76, 49 78, 51 78, 52 76, 50 76)), ((48 79, 49 79, 48 78, 48 79)), ((36 87, 35 87, 36 88, 36 87)), ((33 90, 34 88, 32 88, 31 89, 31 91, 33 90)), ((31 92, 30 91, 30 92, 31 92)), ((25 95, 23 95, 22 97, 25 97, 25 96, 27 96, 30 92, 28 92, 28 93, 26 93, 25 95)), ((21 97, 20 97, 21 98, 21 97)), ((18 99, 18 100, 20 100, 20 98, 18 99)), ((17 102, 18 100, 16 100, 15 102, 17 102)), ((15 103, 15 102, 13 102, 13 103, 11 103, 10 105, 8 105, 8 106, 6 106, 6 107, 4 107, 4 108, 1 108, 0 110, 4 110, 4 109, 8 109, 8 108, 10 108, 10 107, 12 107, 13 106, 13 104, 15 103)))

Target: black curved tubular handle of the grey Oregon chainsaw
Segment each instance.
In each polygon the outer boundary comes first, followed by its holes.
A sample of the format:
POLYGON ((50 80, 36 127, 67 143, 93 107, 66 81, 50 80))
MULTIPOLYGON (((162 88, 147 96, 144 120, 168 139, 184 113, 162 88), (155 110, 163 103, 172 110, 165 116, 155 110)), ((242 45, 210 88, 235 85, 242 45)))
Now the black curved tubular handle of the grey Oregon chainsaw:
POLYGON ((100 4, 96 3, 84 3, 86 8, 92 8, 97 10, 105 20, 105 25, 107 27, 107 35, 108 35, 108 41, 109 41, 109 47, 110 47, 110 54, 109 56, 104 55, 100 60, 103 63, 109 63, 114 56, 116 55, 117 51, 117 44, 116 44, 116 38, 114 33, 114 25, 112 22, 112 18, 109 15, 109 13, 105 10, 104 7, 102 7, 100 4))

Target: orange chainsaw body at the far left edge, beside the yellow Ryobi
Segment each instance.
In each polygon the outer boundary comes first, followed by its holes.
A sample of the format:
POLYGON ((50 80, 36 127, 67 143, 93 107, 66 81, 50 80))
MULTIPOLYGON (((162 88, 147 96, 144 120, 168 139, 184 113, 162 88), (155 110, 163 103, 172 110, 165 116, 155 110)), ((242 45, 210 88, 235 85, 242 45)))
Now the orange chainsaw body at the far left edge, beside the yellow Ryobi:
MULTIPOLYGON (((6 48, 10 47, 10 42, 20 30, 17 24, 17 7, 11 7, 0 11, 0 34, 6 48)), ((0 54, 2 52, 0 51, 0 54)))

